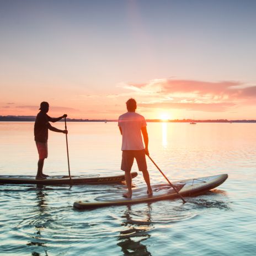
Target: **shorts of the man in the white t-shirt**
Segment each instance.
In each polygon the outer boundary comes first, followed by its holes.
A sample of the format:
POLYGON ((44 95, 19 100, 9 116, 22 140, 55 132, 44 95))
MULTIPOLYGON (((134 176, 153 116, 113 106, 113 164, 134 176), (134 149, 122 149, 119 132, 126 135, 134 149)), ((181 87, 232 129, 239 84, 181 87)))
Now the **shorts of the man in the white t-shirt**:
POLYGON ((141 172, 145 172, 147 170, 145 150, 123 150, 121 170, 130 172, 132 164, 134 163, 134 158, 137 161, 138 169, 141 172))

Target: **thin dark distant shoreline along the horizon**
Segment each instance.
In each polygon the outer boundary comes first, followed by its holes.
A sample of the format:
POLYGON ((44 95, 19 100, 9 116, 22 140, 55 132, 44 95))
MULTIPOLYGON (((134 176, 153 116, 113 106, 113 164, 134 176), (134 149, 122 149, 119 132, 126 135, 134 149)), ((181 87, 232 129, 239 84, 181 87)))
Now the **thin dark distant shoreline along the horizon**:
MULTIPOLYGON (((0 122, 33 122, 35 116, 0 116, 0 122)), ((117 122, 118 120, 106 120, 106 119, 66 119, 68 122, 117 122)), ((63 121, 63 120, 62 120, 63 121)), ((174 119, 174 120, 161 120, 161 119, 147 119, 147 122, 256 122, 256 120, 192 120, 192 119, 174 119)))

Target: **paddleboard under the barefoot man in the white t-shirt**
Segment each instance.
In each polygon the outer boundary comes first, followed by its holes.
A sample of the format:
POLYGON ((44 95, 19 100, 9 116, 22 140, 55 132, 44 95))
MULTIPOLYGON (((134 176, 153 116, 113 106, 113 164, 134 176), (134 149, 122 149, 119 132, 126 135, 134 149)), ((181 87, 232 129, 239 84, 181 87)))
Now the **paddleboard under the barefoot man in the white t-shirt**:
MULTIPOLYGON (((194 196, 205 193, 221 185, 227 179, 227 174, 209 177, 179 180, 172 184, 182 196, 194 196)), ((141 202, 153 202, 166 199, 174 199, 179 196, 169 184, 152 185, 153 195, 147 195, 147 188, 133 189, 132 198, 124 198, 124 192, 98 196, 92 201, 76 201, 74 207, 77 209, 90 209, 95 207, 138 204, 141 202)))

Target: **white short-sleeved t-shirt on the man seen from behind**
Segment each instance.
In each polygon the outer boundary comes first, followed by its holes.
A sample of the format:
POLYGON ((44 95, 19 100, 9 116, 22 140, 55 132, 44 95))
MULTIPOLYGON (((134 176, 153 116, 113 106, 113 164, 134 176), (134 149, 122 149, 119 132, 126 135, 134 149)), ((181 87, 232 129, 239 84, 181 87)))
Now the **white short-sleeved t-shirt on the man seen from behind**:
POLYGON ((122 129, 122 150, 143 150, 141 128, 145 127, 145 118, 135 112, 119 116, 118 126, 122 129))

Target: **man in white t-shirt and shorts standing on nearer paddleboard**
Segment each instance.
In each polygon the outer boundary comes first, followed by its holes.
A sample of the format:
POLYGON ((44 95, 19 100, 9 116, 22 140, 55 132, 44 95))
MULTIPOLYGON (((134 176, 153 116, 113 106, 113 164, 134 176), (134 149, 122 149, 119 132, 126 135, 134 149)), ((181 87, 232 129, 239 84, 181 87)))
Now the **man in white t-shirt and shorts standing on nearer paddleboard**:
POLYGON ((120 115, 118 126, 122 135, 122 163, 121 170, 125 172, 125 181, 128 192, 123 194, 125 198, 131 198, 131 168, 134 158, 137 161, 138 169, 143 173, 143 178, 147 184, 147 194, 152 195, 150 185, 150 174, 148 174, 146 155, 148 153, 148 135, 146 120, 142 115, 135 113, 137 103, 135 99, 126 102, 127 113, 120 115), (142 142, 141 133, 145 147, 142 142))

